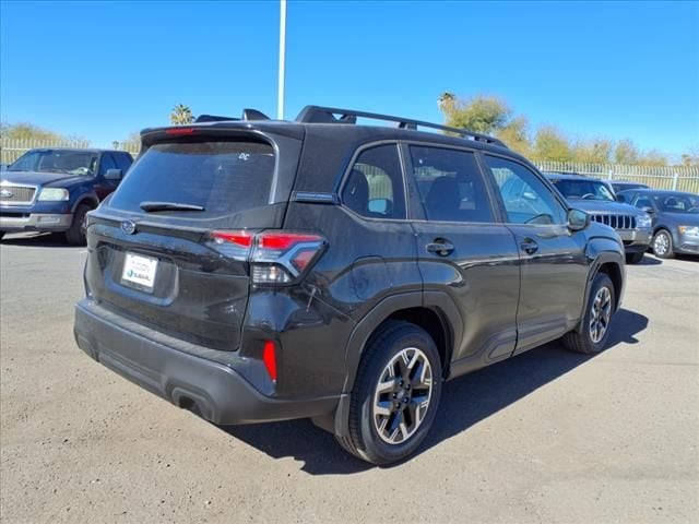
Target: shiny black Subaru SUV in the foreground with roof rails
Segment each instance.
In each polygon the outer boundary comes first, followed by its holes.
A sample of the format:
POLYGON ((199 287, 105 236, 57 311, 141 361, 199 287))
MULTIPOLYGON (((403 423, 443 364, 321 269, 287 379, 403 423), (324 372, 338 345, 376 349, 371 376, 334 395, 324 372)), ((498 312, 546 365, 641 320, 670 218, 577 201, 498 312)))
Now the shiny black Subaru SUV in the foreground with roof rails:
POLYGON ((621 241, 502 143, 315 106, 262 118, 142 132, 88 215, 90 356, 213 422, 310 417, 387 464, 445 380, 561 336, 604 347, 621 241), (533 209, 502 199, 511 179, 533 209))

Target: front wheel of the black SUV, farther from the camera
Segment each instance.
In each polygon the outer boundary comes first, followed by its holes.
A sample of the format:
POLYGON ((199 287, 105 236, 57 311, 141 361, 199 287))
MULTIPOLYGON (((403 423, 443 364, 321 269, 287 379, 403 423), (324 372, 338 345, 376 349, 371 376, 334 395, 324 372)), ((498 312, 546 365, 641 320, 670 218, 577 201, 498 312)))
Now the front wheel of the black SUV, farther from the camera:
POLYGON ((604 349, 614 319, 615 300, 612 279, 605 273, 599 273, 590 286, 582 329, 580 332, 566 333, 562 337, 568 349, 584 355, 594 355, 604 349))

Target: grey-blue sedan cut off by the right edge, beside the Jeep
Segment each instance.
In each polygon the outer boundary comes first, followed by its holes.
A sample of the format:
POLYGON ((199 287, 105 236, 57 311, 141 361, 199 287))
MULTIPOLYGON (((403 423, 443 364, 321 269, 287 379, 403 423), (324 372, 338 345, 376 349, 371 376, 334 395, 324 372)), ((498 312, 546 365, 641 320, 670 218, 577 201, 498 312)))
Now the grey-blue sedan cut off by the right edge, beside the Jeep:
POLYGON ((653 218, 651 248, 656 257, 699 254, 699 194, 635 189, 619 195, 653 218))

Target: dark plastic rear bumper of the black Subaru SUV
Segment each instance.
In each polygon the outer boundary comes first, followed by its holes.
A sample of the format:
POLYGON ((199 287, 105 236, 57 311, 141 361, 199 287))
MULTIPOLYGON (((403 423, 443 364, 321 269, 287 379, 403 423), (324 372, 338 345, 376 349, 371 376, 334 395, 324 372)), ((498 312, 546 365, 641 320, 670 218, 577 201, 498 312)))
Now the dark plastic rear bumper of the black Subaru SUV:
MULTIPOLYGON (((332 413, 339 397, 280 400, 247 380, 249 359, 225 365, 186 353, 116 323, 115 314, 84 299, 75 307, 75 341, 87 355, 180 407, 196 407, 215 424, 251 424, 332 413)), ((220 353, 220 352, 217 352, 220 353)), ((229 353, 229 352, 227 352, 229 353)))

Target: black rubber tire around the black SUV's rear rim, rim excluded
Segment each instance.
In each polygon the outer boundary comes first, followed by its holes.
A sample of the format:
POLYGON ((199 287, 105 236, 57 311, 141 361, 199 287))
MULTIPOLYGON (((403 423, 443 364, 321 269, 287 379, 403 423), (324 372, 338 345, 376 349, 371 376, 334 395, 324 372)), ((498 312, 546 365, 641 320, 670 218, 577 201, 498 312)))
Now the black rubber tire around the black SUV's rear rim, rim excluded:
POLYGON ((356 437, 355 440, 358 440, 357 448, 363 455, 366 455, 364 458, 374 464, 391 464, 414 453, 429 432, 439 409, 442 378, 441 360, 437 346, 423 329, 407 322, 402 324, 388 338, 381 341, 381 346, 374 345, 369 348, 371 353, 367 355, 367 361, 363 362, 365 365, 359 371, 360 376, 357 377, 356 402, 359 405, 354 413, 355 417, 358 417, 358 420, 354 420, 354 437, 356 437), (433 369, 431 397, 427 414, 417 431, 406 442, 389 444, 381 440, 374 425, 375 388, 391 358, 406 347, 417 347, 429 360, 433 369))

